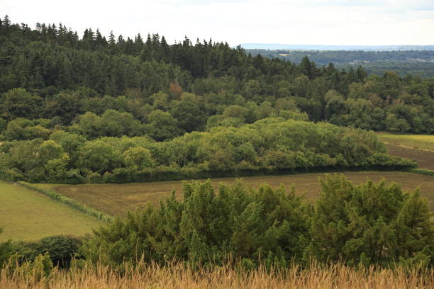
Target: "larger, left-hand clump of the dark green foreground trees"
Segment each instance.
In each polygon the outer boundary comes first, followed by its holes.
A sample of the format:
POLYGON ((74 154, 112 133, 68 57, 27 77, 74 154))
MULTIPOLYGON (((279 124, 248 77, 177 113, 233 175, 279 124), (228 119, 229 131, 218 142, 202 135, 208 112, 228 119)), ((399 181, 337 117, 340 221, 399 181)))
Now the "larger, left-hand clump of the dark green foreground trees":
POLYGON ((262 186, 250 191, 237 183, 214 192, 211 182, 183 184, 184 201, 174 194, 159 209, 129 213, 126 220, 98 229, 82 254, 91 261, 120 264, 137 261, 221 263, 228 254, 252 263, 265 253, 290 261, 301 259, 308 222, 306 204, 294 192, 262 186))

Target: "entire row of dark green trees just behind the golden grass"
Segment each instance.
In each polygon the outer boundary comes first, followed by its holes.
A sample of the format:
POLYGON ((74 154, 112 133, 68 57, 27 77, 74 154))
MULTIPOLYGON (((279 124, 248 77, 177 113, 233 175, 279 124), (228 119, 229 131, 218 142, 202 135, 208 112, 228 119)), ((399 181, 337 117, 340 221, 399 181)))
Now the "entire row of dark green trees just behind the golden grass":
POLYGON ((353 186, 326 176, 311 204, 281 186, 257 190, 243 183, 213 188, 185 182, 184 198, 149 205, 98 229, 85 242, 89 261, 225 263, 228 256, 251 268, 258 263, 344 261, 357 266, 433 266, 434 226, 418 191, 367 181, 353 186))

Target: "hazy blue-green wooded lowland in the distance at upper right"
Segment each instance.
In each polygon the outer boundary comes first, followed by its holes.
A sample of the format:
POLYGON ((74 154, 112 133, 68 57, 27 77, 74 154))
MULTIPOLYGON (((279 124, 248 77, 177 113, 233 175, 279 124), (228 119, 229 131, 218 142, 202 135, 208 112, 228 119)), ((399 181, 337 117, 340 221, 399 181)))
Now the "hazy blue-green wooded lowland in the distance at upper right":
MULTIPOLYGON (((382 76, 387 71, 394 71, 401 77, 411 74, 418 77, 434 77, 433 50, 264 50, 247 49, 253 56, 277 57, 282 60, 300 63, 307 55, 316 64, 328 65, 330 62, 339 69, 357 69, 359 65, 368 74, 382 76)), ((423 47, 421 47, 423 49, 423 47)))

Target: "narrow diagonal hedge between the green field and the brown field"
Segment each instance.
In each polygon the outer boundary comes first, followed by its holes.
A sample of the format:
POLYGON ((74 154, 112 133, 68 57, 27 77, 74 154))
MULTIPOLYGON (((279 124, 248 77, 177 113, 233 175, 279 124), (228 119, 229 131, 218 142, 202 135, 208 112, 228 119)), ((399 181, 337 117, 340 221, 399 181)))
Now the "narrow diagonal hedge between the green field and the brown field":
POLYGON ((58 203, 63 203, 65 205, 68 205, 69 207, 78 210, 80 212, 84 212, 87 215, 90 215, 92 217, 96 217, 96 219, 104 221, 104 222, 113 222, 113 217, 110 215, 107 215, 104 212, 100 212, 98 210, 95 210, 87 205, 84 205, 82 203, 79 203, 77 200, 73 200, 72 198, 68 198, 65 196, 60 195, 60 193, 56 193, 55 191, 48 190, 45 188, 38 188, 36 186, 31 185, 30 183, 27 183, 25 181, 17 181, 16 184, 18 186, 22 186, 23 188, 28 188, 31 191, 35 191, 37 193, 42 193, 45 196, 48 196, 48 198, 54 200, 58 203))

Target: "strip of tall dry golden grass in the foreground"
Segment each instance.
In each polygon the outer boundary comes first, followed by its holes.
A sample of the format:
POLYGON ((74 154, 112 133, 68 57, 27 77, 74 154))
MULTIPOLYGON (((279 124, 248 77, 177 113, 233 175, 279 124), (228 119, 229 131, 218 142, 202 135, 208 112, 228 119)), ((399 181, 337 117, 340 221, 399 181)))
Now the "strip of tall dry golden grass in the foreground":
POLYGON ((323 268, 313 264, 301 270, 291 266, 284 270, 267 271, 260 267, 241 271, 233 266, 192 270, 180 263, 158 266, 141 263, 118 273, 106 266, 84 266, 70 271, 54 270, 48 277, 37 273, 4 268, 0 273, 0 288, 434 288, 433 269, 355 269, 340 264, 323 268))

